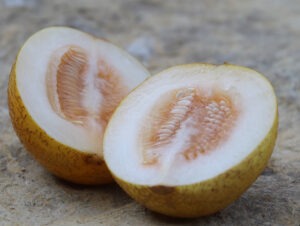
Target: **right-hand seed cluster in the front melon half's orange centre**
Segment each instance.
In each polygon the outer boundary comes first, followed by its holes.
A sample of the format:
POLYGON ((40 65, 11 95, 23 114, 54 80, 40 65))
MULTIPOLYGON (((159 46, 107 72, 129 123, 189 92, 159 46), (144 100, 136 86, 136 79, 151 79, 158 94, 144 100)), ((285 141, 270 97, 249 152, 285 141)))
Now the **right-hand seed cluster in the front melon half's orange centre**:
POLYGON ((190 137, 189 143, 192 145, 182 152, 186 160, 196 159, 198 155, 218 147, 229 137, 236 121, 237 111, 224 95, 204 98, 201 106, 193 113, 193 126, 197 126, 199 132, 190 137))

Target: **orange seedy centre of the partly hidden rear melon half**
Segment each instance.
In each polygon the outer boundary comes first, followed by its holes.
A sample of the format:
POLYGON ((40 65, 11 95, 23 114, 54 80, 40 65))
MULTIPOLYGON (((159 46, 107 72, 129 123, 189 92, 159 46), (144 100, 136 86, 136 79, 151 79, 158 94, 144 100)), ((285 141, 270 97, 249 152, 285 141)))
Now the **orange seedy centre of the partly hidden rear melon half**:
POLYGON ((105 59, 91 59, 78 46, 65 46, 54 52, 46 83, 53 110, 88 131, 95 124, 99 128, 105 127, 129 91, 105 59))

